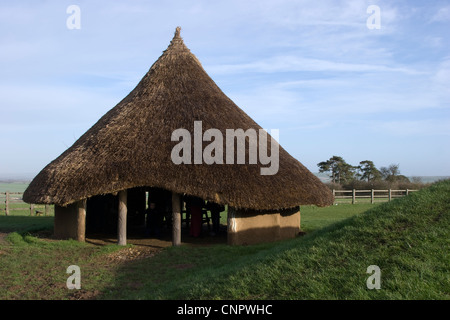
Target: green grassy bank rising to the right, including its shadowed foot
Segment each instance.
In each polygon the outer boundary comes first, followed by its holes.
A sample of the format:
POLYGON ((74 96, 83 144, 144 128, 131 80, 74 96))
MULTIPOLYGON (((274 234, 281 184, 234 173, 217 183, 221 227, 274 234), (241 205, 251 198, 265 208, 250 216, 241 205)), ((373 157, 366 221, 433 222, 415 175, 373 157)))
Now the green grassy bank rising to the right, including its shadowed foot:
POLYGON ((447 181, 277 244, 170 248, 122 268, 103 297, 449 299, 449 195, 447 181), (367 288, 370 265, 381 269, 380 290, 367 288), (127 286, 138 273, 141 286, 127 286))

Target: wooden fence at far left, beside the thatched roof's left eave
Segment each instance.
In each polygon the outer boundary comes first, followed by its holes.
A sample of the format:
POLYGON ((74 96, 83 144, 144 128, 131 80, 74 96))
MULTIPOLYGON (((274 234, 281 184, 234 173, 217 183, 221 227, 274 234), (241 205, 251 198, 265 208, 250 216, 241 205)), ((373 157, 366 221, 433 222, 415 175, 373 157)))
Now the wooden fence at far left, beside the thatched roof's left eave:
POLYGON ((50 215, 51 207, 50 205, 36 205, 28 204, 22 200, 23 192, 0 192, 0 203, 4 203, 4 207, 0 209, 0 213, 9 215, 11 211, 26 211, 29 212, 30 216, 36 215, 50 215))

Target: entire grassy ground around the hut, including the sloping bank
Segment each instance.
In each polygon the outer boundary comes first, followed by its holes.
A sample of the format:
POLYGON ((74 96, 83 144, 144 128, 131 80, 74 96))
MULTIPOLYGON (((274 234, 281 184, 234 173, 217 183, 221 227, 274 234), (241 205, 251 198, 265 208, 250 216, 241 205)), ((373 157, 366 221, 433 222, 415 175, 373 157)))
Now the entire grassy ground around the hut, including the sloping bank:
POLYGON ((39 238, 52 217, 0 217, 0 234, 10 232, 0 238, 0 299, 448 300, 449 197, 446 181, 391 203, 302 207, 307 234, 293 240, 125 260, 135 247, 39 238), (74 264, 80 290, 66 288, 74 264), (380 290, 366 286, 370 265, 380 290))

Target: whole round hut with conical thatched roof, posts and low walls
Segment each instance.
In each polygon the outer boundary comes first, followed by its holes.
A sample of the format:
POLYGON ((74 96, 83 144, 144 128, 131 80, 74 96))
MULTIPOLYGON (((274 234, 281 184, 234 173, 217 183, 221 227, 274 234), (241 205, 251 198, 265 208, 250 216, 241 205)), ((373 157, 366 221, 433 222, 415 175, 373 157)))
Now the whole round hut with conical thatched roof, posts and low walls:
MULTIPOLYGON (((208 76, 177 28, 136 88, 48 164, 23 199, 55 204, 55 235, 61 238, 83 241, 91 216, 102 220, 115 213, 120 244, 126 222, 142 222, 146 188, 172 194, 174 244, 180 243, 180 195, 228 205, 231 244, 294 237, 300 205, 332 204, 328 188, 281 146, 278 171, 271 175, 261 174, 267 165, 260 162, 175 164, 171 155, 179 142, 173 132, 193 132, 199 121, 203 133, 217 129, 224 136, 227 129, 261 129, 208 76)), ((270 149, 276 142, 266 135, 270 149)), ((245 152, 249 159, 248 144, 245 152)))

